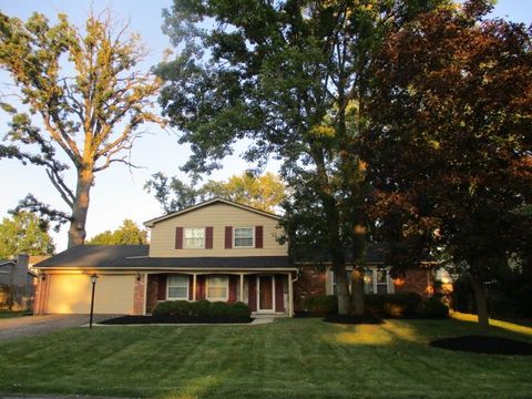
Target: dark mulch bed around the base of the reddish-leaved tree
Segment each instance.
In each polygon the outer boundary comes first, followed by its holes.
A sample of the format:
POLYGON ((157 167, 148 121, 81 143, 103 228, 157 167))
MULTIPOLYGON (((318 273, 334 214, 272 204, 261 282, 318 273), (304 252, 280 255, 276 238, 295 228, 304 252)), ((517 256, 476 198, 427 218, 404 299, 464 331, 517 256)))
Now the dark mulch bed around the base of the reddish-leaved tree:
POLYGON ((532 356, 532 345, 509 338, 491 336, 462 336, 429 342, 430 346, 474 354, 532 356))

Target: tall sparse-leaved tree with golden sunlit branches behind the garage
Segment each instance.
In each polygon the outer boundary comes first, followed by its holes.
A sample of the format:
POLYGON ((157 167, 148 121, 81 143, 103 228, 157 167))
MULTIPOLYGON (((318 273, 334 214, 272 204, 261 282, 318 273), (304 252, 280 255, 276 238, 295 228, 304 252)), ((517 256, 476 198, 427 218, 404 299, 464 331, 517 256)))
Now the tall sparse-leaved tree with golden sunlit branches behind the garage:
POLYGON ((29 108, 19 113, 3 103, 12 114, 7 134, 11 143, 0 145, 0 157, 45 168, 69 213, 50 209, 32 195, 21 205, 66 217, 70 247, 84 242, 95 174, 113 163, 132 166, 126 154, 139 127, 144 122, 161 123, 149 111, 160 80, 136 69, 145 57, 140 38, 126 37, 127 27, 115 25, 110 12, 91 13, 83 33, 66 16, 58 19, 50 25, 44 16, 34 13, 24 23, 0 13, 0 65, 29 108), (34 115, 43 129, 33 125, 34 115), (69 164, 75 168, 73 187, 65 176, 69 164))

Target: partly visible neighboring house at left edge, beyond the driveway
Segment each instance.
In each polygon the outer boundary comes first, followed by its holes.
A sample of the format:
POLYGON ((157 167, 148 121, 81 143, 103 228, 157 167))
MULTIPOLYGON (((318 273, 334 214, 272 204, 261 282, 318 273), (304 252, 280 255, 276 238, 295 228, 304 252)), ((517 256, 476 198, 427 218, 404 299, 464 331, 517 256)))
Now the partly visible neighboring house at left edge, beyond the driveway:
POLYGON ((30 256, 0 259, 0 308, 25 310, 32 308, 37 273, 30 269, 30 256))

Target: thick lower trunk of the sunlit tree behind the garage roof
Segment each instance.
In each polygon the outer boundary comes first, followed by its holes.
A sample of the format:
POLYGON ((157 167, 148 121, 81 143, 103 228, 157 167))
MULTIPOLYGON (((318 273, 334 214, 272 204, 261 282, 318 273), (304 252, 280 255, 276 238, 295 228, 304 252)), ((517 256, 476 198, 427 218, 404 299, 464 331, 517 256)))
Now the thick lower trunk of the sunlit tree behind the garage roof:
POLYGON ((78 172, 78 185, 69 229, 69 248, 75 245, 83 245, 85 242, 85 223, 93 180, 94 173, 92 172, 92 167, 78 172))

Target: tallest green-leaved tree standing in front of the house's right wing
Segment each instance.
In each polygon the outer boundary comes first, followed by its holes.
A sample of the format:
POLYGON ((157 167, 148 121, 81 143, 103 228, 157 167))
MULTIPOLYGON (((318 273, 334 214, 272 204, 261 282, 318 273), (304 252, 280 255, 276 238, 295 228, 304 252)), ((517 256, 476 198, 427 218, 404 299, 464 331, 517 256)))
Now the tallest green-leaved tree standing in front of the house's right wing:
POLYGON ((296 227, 300 204, 320 227, 305 239, 308 229, 291 232, 290 245, 314 239, 327 253, 340 314, 350 310, 346 248, 355 258, 364 252, 365 214, 350 209, 364 207, 355 144, 366 129, 368 66, 388 31, 441 2, 193 0, 165 11, 166 32, 183 51, 158 68, 168 82, 161 104, 192 143, 185 170, 217 167, 242 139, 258 166, 280 158, 285 182, 307 193, 287 206, 286 224, 296 227))

